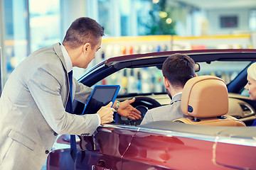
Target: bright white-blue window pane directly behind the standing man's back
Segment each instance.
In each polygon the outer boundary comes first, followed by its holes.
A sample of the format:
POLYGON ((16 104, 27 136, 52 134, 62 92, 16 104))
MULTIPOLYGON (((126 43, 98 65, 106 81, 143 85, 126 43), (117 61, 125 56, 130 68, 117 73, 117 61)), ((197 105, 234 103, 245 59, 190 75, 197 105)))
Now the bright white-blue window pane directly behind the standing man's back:
POLYGON ((60 42, 60 0, 30 0, 31 52, 60 42))

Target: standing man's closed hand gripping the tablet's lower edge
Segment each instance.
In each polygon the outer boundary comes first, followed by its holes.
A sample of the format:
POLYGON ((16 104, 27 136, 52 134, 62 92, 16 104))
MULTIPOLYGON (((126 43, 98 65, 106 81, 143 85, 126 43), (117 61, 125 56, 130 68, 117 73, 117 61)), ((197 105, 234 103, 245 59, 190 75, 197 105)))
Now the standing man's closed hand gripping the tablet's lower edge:
POLYGON ((111 108, 112 102, 108 103, 107 106, 102 106, 97 114, 100 115, 101 125, 111 123, 113 121, 114 108, 111 108))

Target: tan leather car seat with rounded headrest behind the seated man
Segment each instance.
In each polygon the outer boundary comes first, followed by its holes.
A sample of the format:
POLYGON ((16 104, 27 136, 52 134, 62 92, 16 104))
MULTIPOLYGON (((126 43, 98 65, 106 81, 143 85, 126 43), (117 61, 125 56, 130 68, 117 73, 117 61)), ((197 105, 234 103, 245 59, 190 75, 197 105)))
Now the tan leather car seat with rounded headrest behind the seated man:
POLYGON ((192 125, 245 126, 228 113, 228 89, 223 79, 200 76, 189 79, 181 97, 181 111, 188 118, 174 122, 192 125))

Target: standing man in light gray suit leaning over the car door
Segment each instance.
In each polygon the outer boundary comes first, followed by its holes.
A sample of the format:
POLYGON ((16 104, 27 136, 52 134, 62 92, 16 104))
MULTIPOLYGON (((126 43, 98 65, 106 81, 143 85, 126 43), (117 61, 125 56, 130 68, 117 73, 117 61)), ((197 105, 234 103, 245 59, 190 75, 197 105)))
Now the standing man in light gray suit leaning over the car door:
MULTIPOLYGON (((113 120, 114 108, 128 118, 139 111, 127 100, 109 103, 95 114, 65 111, 70 94, 68 72, 86 68, 100 49, 104 28, 90 18, 78 18, 63 44, 44 47, 12 72, 0 98, 0 169, 41 169, 58 134, 92 135, 113 120)), ((73 79, 72 98, 86 103, 92 89, 73 79)))

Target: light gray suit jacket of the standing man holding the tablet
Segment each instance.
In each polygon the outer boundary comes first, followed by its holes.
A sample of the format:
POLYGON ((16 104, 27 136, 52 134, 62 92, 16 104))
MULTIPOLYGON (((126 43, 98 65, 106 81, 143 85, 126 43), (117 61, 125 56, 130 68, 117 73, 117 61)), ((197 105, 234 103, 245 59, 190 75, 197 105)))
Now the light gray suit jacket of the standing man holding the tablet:
MULTIPOLYGON (((73 79, 73 98, 92 89, 73 79)), ((60 44, 28 56, 12 72, 0 98, 0 169, 41 169, 58 134, 92 135, 96 114, 65 112, 69 82, 60 44)))

